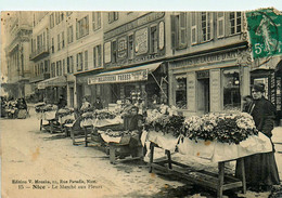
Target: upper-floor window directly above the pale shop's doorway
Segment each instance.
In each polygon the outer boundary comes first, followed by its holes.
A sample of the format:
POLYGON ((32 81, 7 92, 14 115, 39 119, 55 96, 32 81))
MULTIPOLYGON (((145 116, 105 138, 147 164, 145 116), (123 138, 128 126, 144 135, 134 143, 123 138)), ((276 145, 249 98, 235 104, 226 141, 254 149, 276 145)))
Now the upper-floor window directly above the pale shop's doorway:
POLYGON ((202 12, 202 41, 213 39, 213 13, 202 12))

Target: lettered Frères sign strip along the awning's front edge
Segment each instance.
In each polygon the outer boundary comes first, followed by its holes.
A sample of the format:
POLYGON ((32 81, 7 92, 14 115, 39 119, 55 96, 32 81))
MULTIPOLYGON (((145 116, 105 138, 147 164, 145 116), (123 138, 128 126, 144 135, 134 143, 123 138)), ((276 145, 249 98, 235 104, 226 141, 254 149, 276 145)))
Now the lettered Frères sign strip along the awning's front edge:
POLYGON ((88 78, 88 84, 120 83, 143 80, 148 80, 148 69, 125 74, 95 76, 93 78, 88 78))

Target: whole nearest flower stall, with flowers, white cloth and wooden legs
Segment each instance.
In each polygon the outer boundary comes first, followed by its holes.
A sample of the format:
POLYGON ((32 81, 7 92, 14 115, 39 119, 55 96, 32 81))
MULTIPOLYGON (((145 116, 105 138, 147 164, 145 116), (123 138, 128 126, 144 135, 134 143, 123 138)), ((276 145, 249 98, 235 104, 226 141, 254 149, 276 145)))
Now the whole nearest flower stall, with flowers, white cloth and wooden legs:
MULTIPOLYGON (((272 150, 270 140, 255 128, 253 118, 245 113, 208 114, 183 118, 165 107, 149 114, 148 129, 142 134, 142 144, 150 147, 150 172, 153 168, 168 171, 190 182, 222 192, 243 187, 245 177, 235 179, 225 174, 225 163, 236 160, 244 163, 244 157, 272 150), (167 159, 154 161, 154 148, 165 151, 167 159), (171 153, 194 156, 218 163, 218 174, 207 171, 188 171, 188 166, 174 161, 171 153)), ((242 172, 244 173, 244 166, 242 172)))

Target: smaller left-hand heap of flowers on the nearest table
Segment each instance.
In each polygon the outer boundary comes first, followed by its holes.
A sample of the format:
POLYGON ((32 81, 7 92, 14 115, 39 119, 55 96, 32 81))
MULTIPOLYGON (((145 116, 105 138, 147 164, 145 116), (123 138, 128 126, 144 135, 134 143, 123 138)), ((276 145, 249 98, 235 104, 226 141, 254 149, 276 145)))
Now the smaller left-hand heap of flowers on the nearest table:
POLYGON ((184 117, 177 114, 176 107, 161 105, 159 109, 148 111, 146 130, 154 129, 163 133, 171 133, 179 136, 183 131, 184 117))

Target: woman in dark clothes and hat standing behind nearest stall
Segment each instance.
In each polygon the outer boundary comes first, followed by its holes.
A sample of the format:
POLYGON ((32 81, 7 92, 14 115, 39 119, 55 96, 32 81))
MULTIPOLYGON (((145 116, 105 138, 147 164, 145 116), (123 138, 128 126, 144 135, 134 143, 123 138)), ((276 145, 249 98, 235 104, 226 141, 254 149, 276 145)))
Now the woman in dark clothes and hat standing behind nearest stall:
MULTIPOLYGON (((275 107, 265 98, 265 84, 254 84, 252 89, 253 102, 248 114, 254 118, 258 131, 262 132, 271 141, 274 127, 275 107)), ((256 154, 244 158, 245 177, 247 187, 256 192, 271 190, 272 185, 279 185, 279 173, 274 158, 274 147, 271 153, 256 154)), ((241 167, 236 166, 236 176, 241 177, 241 167)))

